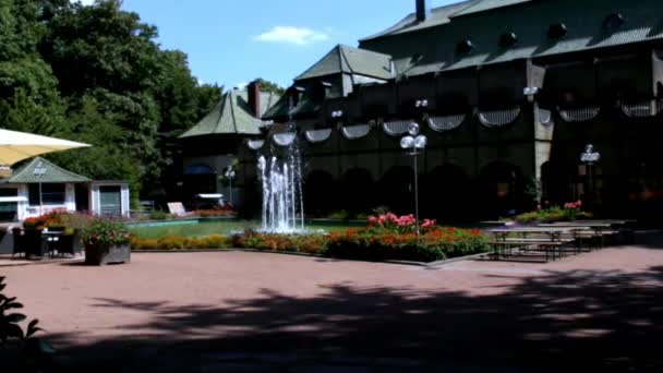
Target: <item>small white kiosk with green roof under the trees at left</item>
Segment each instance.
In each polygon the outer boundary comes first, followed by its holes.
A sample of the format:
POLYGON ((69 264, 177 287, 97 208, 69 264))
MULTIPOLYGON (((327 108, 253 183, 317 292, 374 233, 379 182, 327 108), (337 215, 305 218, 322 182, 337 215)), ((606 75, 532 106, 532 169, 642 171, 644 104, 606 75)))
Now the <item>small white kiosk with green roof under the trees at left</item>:
POLYGON ((129 216, 128 181, 93 181, 35 157, 0 179, 0 222, 53 210, 129 216))

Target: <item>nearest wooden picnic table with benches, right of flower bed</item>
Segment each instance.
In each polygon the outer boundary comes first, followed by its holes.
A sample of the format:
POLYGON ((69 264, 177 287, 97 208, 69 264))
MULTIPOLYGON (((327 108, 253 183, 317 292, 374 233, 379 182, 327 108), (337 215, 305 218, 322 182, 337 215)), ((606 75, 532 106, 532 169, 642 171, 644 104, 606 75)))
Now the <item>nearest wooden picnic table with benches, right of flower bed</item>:
POLYGON ((574 234, 577 230, 582 230, 584 228, 578 227, 514 227, 514 228, 496 228, 489 229, 487 232, 493 233, 496 239, 496 243, 493 245, 495 250, 495 254, 499 257, 499 246, 502 243, 507 243, 507 238, 511 233, 517 233, 522 236, 522 240, 514 242, 514 244, 539 244, 541 246, 545 246, 545 256, 546 261, 549 260, 549 249, 553 248, 553 258, 555 258, 554 248, 560 245, 563 243, 562 234, 574 234), (527 236, 538 234, 538 236, 546 236, 549 239, 545 240, 530 240, 528 241, 527 236))

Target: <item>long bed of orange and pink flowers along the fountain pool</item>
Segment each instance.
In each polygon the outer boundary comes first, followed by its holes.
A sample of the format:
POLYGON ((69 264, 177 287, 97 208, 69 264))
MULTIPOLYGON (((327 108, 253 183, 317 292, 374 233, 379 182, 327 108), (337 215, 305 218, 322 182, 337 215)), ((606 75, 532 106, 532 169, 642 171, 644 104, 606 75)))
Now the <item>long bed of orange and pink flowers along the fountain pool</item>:
POLYGON ((278 252, 317 254, 364 261, 434 262, 487 251, 485 237, 479 229, 439 227, 434 220, 421 222, 417 236, 411 215, 393 214, 371 217, 367 228, 335 233, 276 234, 246 230, 234 234, 185 238, 167 236, 157 240, 132 239, 132 249, 201 250, 256 249, 278 252))

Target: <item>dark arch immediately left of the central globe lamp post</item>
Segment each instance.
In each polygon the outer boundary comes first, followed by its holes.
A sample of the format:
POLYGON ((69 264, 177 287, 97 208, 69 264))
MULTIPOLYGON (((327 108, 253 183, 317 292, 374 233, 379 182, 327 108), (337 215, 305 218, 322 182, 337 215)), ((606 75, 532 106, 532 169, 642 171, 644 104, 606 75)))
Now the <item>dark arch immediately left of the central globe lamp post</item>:
POLYGON ((414 212, 414 172, 406 166, 389 168, 379 181, 379 204, 399 214, 414 212))

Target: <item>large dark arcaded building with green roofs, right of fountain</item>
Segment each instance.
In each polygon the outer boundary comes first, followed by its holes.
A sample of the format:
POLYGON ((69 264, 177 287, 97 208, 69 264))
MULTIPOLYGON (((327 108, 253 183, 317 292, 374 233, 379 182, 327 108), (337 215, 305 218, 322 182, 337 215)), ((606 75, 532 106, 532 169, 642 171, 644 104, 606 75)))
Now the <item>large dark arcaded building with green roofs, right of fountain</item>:
POLYGON ((663 2, 471 0, 337 46, 263 120, 292 132, 306 210, 411 212, 408 124, 429 137, 425 216, 497 217, 584 200, 607 216, 663 207, 663 2), (288 129, 293 120, 297 130, 288 129), (601 159, 580 161, 587 144, 601 159))

